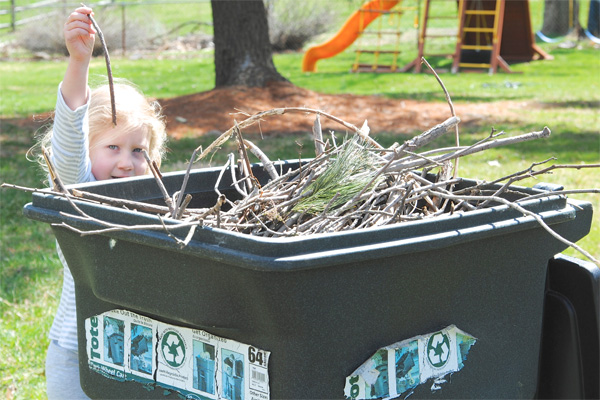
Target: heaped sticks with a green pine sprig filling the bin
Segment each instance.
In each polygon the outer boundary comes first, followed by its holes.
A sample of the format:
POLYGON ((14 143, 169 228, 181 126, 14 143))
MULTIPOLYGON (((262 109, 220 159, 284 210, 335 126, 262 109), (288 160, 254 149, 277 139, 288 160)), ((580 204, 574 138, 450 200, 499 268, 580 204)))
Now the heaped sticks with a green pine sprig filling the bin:
MULTIPOLYGON (((354 127, 354 134, 339 145, 334 136, 323 141, 320 116, 328 115, 311 109, 302 111, 317 115, 313 128, 314 159, 280 174, 257 146, 242 138, 237 125, 231 136, 238 139, 240 162, 236 166, 235 157, 230 154, 223 166, 215 184, 220 200, 211 209, 213 212, 207 209, 182 212, 178 208, 171 215, 188 222, 201 219, 204 226, 276 237, 368 228, 473 210, 493 201, 465 197, 464 190, 453 191, 461 179, 451 174, 452 161, 487 148, 550 134, 548 128, 509 139, 499 139, 502 132, 492 133, 472 146, 416 153, 418 148, 455 127, 459 118, 451 117, 402 145, 384 149, 368 137, 366 125, 360 129, 354 127), (251 172, 248 151, 257 155, 270 176, 264 186, 251 172), (439 172, 428 174, 433 169, 439 172), (241 200, 232 202, 218 190, 227 171, 233 174, 234 187, 241 200), (222 211, 224 203, 229 205, 227 211, 222 211)), ((501 197, 506 190, 508 185, 493 195, 501 197)), ((482 188, 470 188, 468 192, 470 196, 483 194, 482 188)), ((168 202, 177 203, 174 200, 168 202)))

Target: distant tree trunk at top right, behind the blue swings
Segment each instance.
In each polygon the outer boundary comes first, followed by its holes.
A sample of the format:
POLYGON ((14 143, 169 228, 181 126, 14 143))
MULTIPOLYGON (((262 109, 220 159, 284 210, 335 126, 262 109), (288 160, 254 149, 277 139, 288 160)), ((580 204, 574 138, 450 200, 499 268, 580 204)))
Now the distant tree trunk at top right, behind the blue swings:
POLYGON ((546 0, 544 2, 544 24, 542 33, 546 36, 565 36, 572 30, 579 32, 578 0, 546 0))

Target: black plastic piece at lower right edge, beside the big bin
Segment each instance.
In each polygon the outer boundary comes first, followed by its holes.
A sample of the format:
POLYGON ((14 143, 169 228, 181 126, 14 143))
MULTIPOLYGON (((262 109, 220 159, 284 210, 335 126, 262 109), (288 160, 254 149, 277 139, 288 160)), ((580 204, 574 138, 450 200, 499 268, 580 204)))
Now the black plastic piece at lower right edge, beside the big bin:
POLYGON ((538 397, 600 398, 600 269, 559 255, 548 263, 538 397))

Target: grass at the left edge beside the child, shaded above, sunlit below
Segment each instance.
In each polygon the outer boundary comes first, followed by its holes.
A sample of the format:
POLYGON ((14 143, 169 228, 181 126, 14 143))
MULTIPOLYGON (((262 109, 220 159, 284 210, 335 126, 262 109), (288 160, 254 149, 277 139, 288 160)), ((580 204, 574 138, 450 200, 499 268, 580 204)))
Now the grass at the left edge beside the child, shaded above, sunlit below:
MULTIPOLYGON (((40 186, 41 176, 25 159, 26 132, 2 126, 0 180, 40 186)), ((49 226, 24 218, 30 196, 0 190, 0 396, 43 398, 47 335, 58 305, 62 273, 49 226)))

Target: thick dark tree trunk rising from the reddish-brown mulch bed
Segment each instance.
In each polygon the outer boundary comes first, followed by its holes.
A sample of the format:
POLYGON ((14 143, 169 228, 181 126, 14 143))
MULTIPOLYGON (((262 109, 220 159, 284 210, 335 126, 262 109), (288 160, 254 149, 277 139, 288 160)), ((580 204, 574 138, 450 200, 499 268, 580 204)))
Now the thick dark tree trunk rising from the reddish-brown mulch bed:
POLYGON ((286 81, 273 64, 262 0, 211 0, 215 86, 265 86, 286 81))

